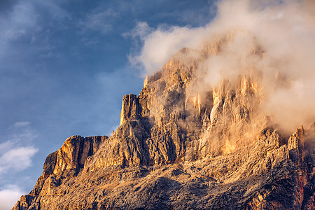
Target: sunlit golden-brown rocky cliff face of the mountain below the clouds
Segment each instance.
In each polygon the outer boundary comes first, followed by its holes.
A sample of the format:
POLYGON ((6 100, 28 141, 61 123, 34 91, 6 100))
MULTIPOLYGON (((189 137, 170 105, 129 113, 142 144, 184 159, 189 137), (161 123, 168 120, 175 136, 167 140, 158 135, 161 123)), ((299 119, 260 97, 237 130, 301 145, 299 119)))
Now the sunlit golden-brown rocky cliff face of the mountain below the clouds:
POLYGON ((13 209, 314 209, 315 126, 283 136, 258 71, 204 87, 222 45, 181 50, 125 95, 111 137, 66 139, 13 209))

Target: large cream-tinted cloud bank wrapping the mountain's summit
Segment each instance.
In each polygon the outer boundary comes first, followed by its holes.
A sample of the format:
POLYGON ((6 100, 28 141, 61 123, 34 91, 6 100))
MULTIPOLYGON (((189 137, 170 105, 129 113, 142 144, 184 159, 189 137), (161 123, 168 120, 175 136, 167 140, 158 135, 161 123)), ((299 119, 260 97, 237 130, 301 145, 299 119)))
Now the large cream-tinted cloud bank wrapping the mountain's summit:
POLYGON ((218 2, 216 18, 204 27, 158 27, 144 33, 148 26, 141 23, 135 35, 143 48, 131 60, 150 75, 183 47, 203 50, 208 43, 226 41, 201 65, 207 83, 257 69, 263 73, 265 113, 292 131, 315 120, 314 8, 314 1, 227 0, 218 2))

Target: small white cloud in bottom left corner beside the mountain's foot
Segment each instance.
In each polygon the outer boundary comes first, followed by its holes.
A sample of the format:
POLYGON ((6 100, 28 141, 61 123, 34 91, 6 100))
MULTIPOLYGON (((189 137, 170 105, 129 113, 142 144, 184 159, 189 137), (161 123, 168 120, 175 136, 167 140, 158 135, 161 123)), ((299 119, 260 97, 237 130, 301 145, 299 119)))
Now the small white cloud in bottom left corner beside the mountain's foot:
POLYGON ((0 210, 12 209, 20 196, 26 194, 16 185, 5 186, 0 189, 0 210))

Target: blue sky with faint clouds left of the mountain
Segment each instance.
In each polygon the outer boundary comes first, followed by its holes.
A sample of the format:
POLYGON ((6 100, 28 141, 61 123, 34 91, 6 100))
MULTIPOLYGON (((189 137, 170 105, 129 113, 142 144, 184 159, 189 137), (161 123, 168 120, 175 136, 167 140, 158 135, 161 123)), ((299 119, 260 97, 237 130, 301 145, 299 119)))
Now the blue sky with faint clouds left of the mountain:
MULTIPOLYGON (((139 94, 141 29, 202 27, 212 1, 0 1, 0 202, 29 193, 67 137, 111 134, 139 94)), ((162 67, 162 66, 161 66, 162 67)))

